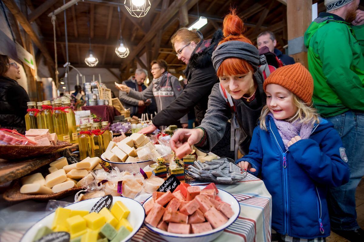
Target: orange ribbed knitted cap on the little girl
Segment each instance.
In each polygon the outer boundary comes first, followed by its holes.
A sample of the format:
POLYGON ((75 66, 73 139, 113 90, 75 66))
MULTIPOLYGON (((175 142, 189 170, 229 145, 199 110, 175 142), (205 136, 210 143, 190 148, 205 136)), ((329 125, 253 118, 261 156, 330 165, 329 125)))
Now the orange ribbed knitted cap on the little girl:
POLYGON ((305 103, 311 103, 313 79, 310 72, 301 63, 283 66, 273 71, 263 83, 264 91, 268 84, 277 84, 287 88, 305 103))

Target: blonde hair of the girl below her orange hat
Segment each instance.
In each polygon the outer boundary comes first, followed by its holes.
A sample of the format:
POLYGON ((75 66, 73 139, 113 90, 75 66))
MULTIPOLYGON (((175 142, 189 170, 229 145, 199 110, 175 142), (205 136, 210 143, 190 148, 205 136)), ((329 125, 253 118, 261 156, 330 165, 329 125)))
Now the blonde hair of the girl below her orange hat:
MULTIPOLYGON (((292 93, 293 104, 297 107, 297 112, 291 118, 287 120, 287 122, 295 122, 300 121, 302 123, 320 123, 319 117, 316 109, 312 107, 312 104, 307 104, 302 99, 298 98, 295 94, 292 93)), ((269 114, 269 108, 265 105, 262 108, 262 112, 259 118, 260 121, 260 128, 262 130, 267 130, 267 126, 265 123, 266 117, 269 114)))

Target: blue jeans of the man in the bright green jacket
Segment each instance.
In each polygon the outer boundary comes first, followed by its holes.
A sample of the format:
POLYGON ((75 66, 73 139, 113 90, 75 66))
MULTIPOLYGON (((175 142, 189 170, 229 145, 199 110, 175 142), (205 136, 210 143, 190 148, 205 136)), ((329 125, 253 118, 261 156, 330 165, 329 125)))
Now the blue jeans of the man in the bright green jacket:
POLYGON ((349 182, 340 187, 332 187, 328 194, 331 228, 358 229, 355 190, 364 175, 364 113, 347 111, 327 120, 332 122, 339 132, 350 168, 349 182))

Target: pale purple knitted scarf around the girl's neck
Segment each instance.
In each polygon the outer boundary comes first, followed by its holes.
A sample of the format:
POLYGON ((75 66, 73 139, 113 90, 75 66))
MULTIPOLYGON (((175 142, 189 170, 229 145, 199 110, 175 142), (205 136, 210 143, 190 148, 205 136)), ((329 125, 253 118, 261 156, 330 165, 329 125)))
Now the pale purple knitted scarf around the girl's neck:
POLYGON ((299 121, 289 123, 284 120, 275 119, 272 113, 269 113, 268 115, 272 116, 286 150, 288 150, 288 141, 294 136, 298 135, 302 139, 308 139, 312 132, 312 123, 301 123, 299 121))

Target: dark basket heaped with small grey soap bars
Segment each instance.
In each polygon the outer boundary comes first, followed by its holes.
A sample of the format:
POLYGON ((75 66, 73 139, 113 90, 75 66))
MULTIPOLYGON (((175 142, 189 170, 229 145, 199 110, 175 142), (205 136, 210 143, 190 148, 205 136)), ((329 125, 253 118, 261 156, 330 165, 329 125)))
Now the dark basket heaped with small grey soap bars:
POLYGON ((241 173, 240 167, 229 162, 226 158, 214 159, 211 161, 195 161, 193 166, 186 168, 186 174, 193 179, 218 184, 235 184, 243 180, 247 172, 241 173))

